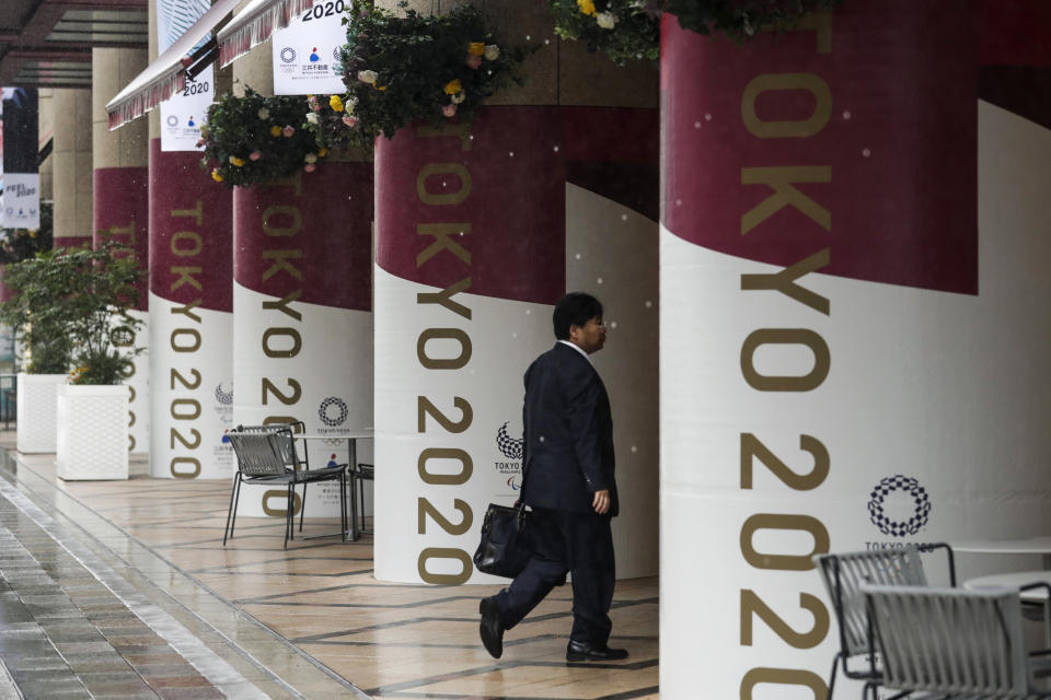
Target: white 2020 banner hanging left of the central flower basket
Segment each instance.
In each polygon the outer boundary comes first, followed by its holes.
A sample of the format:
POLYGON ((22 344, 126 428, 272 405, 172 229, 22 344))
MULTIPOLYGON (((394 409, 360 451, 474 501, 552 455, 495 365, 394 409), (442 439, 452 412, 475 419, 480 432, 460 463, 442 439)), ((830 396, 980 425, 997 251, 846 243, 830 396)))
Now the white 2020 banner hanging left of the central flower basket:
POLYGON ((343 94, 339 47, 347 40, 344 0, 315 1, 287 28, 274 32, 274 94, 343 94))

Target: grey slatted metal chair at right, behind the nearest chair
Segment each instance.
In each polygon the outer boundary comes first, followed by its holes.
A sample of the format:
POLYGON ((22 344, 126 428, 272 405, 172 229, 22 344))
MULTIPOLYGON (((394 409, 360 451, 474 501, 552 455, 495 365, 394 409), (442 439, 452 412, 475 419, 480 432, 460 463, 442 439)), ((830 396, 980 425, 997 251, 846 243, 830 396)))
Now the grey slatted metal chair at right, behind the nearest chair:
POLYGON ((901 549, 873 549, 840 555, 818 555, 815 567, 832 600, 840 632, 840 649, 832 658, 829 675, 828 700, 835 689, 836 669, 842 664, 843 675, 855 680, 878 680, 879 669, 869 664, 864 669, 851 669, 852 657, 871 660, 868 640, 868 616, 861 587, 864 584, 894 586, 925 586, 927 578, 923 570, 921 552, 945 549, 948 557, 949 583, 956 586, 956 563, 952 548, 946 544, 903 547, 901 549))

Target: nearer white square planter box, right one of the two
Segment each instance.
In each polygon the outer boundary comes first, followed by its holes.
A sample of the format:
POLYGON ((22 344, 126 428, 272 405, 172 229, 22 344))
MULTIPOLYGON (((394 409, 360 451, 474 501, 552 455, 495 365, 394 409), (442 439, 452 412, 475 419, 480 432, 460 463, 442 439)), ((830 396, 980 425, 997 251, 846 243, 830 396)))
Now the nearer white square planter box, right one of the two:
POLYGON ((128 478, 128 387, 58 387, 57 457, 60 479, 128 478))

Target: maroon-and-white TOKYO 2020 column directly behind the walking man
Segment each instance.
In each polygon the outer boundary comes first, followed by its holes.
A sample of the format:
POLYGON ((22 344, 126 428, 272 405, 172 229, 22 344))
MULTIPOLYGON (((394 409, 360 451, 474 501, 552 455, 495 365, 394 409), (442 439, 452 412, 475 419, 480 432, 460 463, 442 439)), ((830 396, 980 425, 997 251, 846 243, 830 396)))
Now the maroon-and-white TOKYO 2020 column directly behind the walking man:
POLYGON ((652 575, 657 72, 561 42, 542 4, 482 9, 503 42, 540 45, 524 88, 470 130, 377 140, 376 575, 498 581, 471 555, 486 505, 518 497, 522 375, 570 290, 613 325, 593 359, 615 425, 617 575, 652 575))

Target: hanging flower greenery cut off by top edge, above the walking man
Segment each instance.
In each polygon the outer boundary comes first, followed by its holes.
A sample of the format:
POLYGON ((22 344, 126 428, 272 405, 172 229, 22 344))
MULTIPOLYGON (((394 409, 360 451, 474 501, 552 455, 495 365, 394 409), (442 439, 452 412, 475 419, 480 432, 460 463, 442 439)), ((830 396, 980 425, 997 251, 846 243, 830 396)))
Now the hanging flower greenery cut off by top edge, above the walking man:
POLYGON ((660 15, 698 34, 725 34, 742 43, 762 30, 784 32, 813 12, 843 0, 548 0, 555 34, 585 42, 623 66, 660 58, 660 15))

